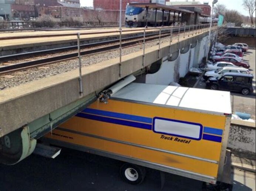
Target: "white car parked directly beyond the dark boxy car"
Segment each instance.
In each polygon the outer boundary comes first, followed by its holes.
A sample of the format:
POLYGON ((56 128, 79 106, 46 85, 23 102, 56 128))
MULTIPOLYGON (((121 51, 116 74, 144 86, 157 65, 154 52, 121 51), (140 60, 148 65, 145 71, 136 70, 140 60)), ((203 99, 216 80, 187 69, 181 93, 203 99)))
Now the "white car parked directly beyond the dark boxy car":
POLYGON ((203 79, 208 80, 210 77, 220 77, 227 72, 250 74, 250 71, 246 68, 226 66, 217 70, 211 70, 206 72, 203 75, 203 79))

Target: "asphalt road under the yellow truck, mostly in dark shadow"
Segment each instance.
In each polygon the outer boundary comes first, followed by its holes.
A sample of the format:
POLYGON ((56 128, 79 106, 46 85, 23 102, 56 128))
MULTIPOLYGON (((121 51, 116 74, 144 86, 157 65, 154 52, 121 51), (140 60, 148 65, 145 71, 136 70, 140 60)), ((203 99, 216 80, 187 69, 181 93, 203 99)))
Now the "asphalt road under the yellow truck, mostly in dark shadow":
MULTIPOLYGON (((0 164, 0 191, 158 191, 160 173, 147 169, 145 181, 130 185, 119 176, 121 162, 63 149, 55 159, 32 154, 14 166, 0 164)), ((233 191, 255 191, 255 174, 235 170, 233 191)), ((199 191, 202 182, 166 173, 163 191, 199 191)))

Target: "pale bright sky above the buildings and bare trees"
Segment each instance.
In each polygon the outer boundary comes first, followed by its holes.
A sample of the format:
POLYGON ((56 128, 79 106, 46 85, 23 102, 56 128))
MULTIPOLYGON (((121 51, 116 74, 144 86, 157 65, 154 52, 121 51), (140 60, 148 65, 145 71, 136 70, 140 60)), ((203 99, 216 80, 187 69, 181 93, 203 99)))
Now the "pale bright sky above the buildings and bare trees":
MULTIPOLYGON (((109 0, 111 2, 111 0, 109 0)), ((176 1, 176 0, 171 0, 171 1, 176 1)), ((178 0, 180 1, 180 0, 178 0)), ((185 0, 184 0, 185 1, 185 0)), ((192 0, 189 0, 192 1, 192 0)), ((200 0, 201 3, 203 3, 203 0, 200 0)), ((206 1, 206 0, 205 0, 206 1)), ((87 6, 87 7, 92 7, 93 6, 93 0, 80 0, 81 6, 87 6)), ((243 0, 218 0, 219 4, 224 4, 226 8, 228 9, 233 9, 239 11, 241 14, 249 16, 248 11, 246 11, 242 7, 243 0)), ((212 0, 209 0, 209 4, 212 4, 212 0)), ((255 13, 254 13, 255 16, 255 13)))

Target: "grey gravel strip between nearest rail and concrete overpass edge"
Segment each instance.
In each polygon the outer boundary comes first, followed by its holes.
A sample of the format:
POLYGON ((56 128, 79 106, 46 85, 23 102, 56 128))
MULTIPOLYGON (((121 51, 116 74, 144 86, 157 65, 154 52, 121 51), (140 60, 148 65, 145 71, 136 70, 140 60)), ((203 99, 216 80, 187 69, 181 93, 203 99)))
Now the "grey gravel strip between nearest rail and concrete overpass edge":
MULTIPOLYGON (((169 42, 169 38, 163 39, 162 43, 169 42)), ((145 48, 159 45, 159 41, 146 43, 145 48)), ((134 52, 142 51, 142 45, 136 45, 129 48, 122 49, 122 56, 128 55, 134 52)), ((108 51, 104 53, 98 53, 95 55, 87 55, 82 57, 82 67, 94 65, 106 60, 114 59, 119 57, 119 50, 108 51)), ((54 76, 64 72, 68 72, 78 68, 78 59, 72 59, 62 61, 58 63, 52 63, 50 65, 44 65, 41 67, 30 68, 14 73, 3 74, 0 76, 0 90, 6 88, 18 86, 20 84, 28 83, 30 81, 42 79, 49 76, 54 76)))

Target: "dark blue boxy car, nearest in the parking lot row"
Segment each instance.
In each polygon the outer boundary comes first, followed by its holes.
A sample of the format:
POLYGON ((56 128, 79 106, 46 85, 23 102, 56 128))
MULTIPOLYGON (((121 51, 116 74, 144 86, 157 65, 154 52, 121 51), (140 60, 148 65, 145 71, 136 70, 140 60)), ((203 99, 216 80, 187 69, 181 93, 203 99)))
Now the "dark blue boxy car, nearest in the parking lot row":
POLYGON ((211 90, 237 91, 243 95, 253 92, 253 75, 242 73, 225 73, 221 77, 211 77, 206 81, 206 87, 211 90))

